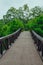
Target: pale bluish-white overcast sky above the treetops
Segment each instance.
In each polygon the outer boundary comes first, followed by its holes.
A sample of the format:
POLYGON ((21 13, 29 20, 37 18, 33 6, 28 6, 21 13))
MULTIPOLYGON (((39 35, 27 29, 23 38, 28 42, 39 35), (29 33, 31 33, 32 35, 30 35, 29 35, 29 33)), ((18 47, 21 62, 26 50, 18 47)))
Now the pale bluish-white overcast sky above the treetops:
POLYGON ((35 6, 43 7, 43 0, 0 0, 0 19, 3 18, 10 7, 19 8, 24 4, 28 4, 30 9, 35 6))

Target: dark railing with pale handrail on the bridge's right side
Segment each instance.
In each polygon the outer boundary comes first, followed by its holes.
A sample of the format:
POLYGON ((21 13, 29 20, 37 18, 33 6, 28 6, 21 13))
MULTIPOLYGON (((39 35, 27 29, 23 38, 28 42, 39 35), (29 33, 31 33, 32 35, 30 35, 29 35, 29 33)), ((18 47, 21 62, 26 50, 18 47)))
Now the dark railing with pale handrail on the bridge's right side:
POLYGON ((37 46, 39 53, 41 52, 41 57, 43 57, 43 37, 38 35, 35 31, 31 31, 32 38, 37 46))

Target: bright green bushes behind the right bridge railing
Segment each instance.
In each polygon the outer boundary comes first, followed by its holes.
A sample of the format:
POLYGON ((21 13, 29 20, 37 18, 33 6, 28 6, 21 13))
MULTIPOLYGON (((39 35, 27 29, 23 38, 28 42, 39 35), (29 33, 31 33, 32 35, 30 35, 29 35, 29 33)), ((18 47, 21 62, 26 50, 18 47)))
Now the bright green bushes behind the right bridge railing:
POLYGON ((43 14, 31 19, 27 23, 27 29, 34 30, 36 33, 43 37, 43 14))

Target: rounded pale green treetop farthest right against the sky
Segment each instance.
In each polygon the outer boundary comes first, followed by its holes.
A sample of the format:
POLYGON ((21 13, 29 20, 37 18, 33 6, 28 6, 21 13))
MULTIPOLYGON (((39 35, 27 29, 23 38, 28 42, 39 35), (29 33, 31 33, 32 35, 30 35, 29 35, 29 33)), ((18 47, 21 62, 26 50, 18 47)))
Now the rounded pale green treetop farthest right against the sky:
POLYGON ((40 14, 42 14, 42 12, 43 11, 39 6, 35 6, 34 8, 31 9, 30 16, 37 17, 40 14))

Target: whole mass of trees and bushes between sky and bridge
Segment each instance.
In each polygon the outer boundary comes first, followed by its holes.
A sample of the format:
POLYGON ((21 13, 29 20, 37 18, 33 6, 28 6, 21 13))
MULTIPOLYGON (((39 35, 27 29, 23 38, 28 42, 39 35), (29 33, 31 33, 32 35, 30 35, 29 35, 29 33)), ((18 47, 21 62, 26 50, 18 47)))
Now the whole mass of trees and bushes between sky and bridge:
POLYGON ((11 34, 19 28, 34 30, 43 36, 43 9, 35 6, 29 10, 27 4, 19 9, 11 7, 0 20, 0 37, 11 34))

